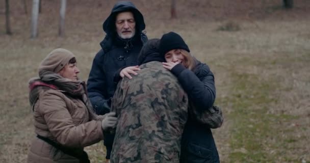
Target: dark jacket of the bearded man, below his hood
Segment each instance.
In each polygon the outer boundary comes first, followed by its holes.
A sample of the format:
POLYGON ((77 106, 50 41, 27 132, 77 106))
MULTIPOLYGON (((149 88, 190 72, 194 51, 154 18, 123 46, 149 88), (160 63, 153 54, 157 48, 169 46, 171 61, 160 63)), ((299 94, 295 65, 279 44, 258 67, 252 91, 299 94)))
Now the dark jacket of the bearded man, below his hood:
POLYGON ((147 41, 147 37, 142 33, 140 38, 138 37, 129 42, 116 37, 111 45, 109 40, 112 38, 106 37, 100 43, 102 49, 93 60, 87 81, 88 96, 96 114, 104 115, 110 112, 111 98, 115 91, 115 73, 123 67, 138 64, 139 52, 143 43, 147 41), (107 52, 104 49, 107 49, 107 52))

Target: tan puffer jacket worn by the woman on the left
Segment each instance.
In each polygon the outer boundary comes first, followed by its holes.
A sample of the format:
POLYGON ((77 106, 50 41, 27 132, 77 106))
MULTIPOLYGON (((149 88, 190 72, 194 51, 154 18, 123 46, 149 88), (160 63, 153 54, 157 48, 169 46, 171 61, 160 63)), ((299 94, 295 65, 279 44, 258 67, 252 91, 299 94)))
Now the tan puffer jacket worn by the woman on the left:
MULTIPOLYGON (((59 90, 45 90, 34 105, 35 133, 63 146, 83 149, 104 137, 101 129, 104 116, 93 116, 90 112, 80 99, 66 96, 59 90)), ((28 162, 70 163, 79 160, 35 138, 28 162)))

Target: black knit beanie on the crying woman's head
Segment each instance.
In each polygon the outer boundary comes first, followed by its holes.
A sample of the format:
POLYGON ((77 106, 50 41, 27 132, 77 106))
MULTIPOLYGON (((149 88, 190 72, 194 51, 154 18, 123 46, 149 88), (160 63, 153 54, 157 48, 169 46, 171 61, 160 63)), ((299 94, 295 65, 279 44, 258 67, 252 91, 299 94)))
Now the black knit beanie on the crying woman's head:
POLYGON ((172 49, 184 49, 190 52, 190 49, 180 35, 174 32, 169 32, 167 34, 164 34, 161 38, 159 51, 161 53, 161 56, 165 56, 166 52, 172 49))

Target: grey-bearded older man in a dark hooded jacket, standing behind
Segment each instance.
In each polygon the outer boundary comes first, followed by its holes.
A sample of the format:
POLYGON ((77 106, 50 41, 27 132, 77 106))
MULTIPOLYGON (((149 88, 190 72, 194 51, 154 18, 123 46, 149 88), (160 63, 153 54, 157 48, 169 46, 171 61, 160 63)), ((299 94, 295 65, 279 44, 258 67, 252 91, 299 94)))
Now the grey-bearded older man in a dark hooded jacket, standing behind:
MULTIPOLYGON (((114 5, 110 16, 102 25, 106 37, 100 42, 101 49, 95 56, 87 81, 87 92, 96 114, 110 112, 111 98, 115 92, 113 78, 127 67, 138 68, 137 58, 147 37, 143 34, 143 15, 128 1, 114 5)), ((110 159, 114 135, 105 133, 107 159, 110 159)))

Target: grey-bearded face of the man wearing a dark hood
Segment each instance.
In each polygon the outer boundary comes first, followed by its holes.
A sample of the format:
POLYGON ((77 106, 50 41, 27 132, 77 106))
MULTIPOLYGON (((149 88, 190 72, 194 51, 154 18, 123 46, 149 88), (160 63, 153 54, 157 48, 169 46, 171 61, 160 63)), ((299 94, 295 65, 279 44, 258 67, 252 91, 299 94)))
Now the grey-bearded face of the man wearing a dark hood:
POLYGON ((122 39, 130 39, 136 33, 136 21, 132 12, 121 12, 115 20, 116 32, 122 39))

